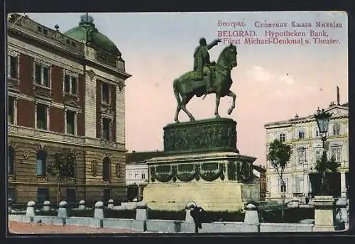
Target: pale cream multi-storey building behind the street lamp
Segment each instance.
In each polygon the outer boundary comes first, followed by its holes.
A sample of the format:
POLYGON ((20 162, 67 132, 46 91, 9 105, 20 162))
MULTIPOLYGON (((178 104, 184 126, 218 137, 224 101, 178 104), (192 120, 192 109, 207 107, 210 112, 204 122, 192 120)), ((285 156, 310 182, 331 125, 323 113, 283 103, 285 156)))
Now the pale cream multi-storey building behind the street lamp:
MULTIPOLYGON (((327 157, 334 157, 341 162, 339 167, 339 196, 346 196, 349 172, 349 105, 332 102, 325 111, 332 113, 327 133, 327 157)), ((309 174, 315 172, 315 162, 322 155, 322 140, 315 121, 315 116, 292 118, 288 121, 267 123, 266 152, 270 143, 278 139, 291 145, 293 154, 285 167, 283 174, 285 189, 281 188, 280 179, 270 162, 267 162, 267 190, 268 199, 279 199, 285 192, 288 199, 293 196, 312 196, 312 186, 309 174)))

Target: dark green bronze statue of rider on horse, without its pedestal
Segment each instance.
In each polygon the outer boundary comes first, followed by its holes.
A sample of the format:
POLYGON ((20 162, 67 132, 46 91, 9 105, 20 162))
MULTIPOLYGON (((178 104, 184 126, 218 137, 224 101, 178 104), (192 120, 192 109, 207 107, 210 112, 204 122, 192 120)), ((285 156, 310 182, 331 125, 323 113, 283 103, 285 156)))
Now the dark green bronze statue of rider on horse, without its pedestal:
POLYGON ((220 118, 218 113, 219 100, 224 96, 231 96, 233 102, 228 109, 228 114, 231 114, 235 108, 236 94, 230 90, 231 70, 236 67, 236 46, 228 45, 222 50, 216 62, 210 62, 208 50, 221 42, 220 39, 214 40, 207 45, 206 39, 200 39, 200 45, 194 52, 194 69, 190 72, 182 74, 174 80, 173 88, 175 98, 178 101, 178 106, 175 113, 175 122, 179 123, 180 111, 185 111, 189 116, 190 121, 195 121, 194 116, 186 109, 186 104, 192 99, 193 96, 204 99, 207 94, 216 94, 216 108, 214 115, 220 118))

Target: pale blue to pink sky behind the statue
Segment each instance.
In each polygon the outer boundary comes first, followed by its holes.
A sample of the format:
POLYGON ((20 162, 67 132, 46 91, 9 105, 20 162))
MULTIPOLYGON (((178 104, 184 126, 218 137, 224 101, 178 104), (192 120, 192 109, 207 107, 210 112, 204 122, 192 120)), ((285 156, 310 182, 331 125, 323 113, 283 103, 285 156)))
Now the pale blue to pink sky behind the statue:
MULTIPOLYGON (((26 14, 50 28, 58 24, 59 30, 65 32, 78 26, 84 13, 26 14)), ((288 120, 296 113, 308 116, 317 107, 327 108, 331 101, 337 101, 337 86, 340 102, 348 101, 348 20, 341 11, 89 15, 94 18, 96 28, 119 48, 126 61, 126 72, 132 75, 126 79, 126 148, 129 151, 163 150, 163 127, 174 123, 177 105, 173 80, 192 70, 193 52, 202 37, 207 43, 216 38, 231 38, 235 42, 240 39, 236 44, 238 66, 231 71, 236 109, 229 116, 231 98, 224 97, 219 113, 237 122, 237 148, 242 155, 256 157, 257 165, 266 165, 266 123, 288 120), (319 27, 317 21, 341 23, 342 27, 319 27), (287 26, 256 27, 256 22, 287 23, 287 26), (304 25, 295 27, 292 23, 304 25), (248 38, 245 35, 252 35, 253 31, 257 35, 253 38, 261 40, 268 38, 266 31, 285 35, 286 30, 304 32, 302 44, 244 43, 248 38), (324 30, 327 36, 320 37, 322 40, 337 41, 316 44, 310 30, 323 35, 324 30), (223 31, 224 36, 220 37, 223 31), (226 36, 236 34, 239 36, 226 36), (310 43, 305 43, 306 39, 310 43)), ((300 40, 300 37, 288 38, 300 40)), ((217 61, 226 45, 222 41, 209 50, 211 61, 217 61)), ((198 120, 213 118, 214 106, 215 96, 209 94, 204 100, 194 97, 187 109, 198 120)), ((179 118, 188 121, 184 112, 179 118)))

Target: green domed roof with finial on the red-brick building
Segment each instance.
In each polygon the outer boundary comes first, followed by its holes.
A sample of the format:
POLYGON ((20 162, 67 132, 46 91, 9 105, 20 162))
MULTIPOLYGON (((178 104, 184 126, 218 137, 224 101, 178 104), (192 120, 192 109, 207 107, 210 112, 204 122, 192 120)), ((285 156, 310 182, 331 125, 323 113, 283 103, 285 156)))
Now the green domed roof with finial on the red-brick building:
POLYGON ((64 35, 83 43, 88 43, 96 48, 105 50, 112 55, 121 56, 121 52, 114 43, 95 28, 94 18, 85 14, 80 17, 79 26, 67 30, 64 35))

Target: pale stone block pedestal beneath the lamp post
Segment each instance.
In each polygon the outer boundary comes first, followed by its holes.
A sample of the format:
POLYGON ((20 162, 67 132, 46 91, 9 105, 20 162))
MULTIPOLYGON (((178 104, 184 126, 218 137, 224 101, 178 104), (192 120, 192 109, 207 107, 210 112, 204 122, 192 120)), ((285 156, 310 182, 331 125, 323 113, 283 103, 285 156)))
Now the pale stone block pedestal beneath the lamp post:
POLYGON ((333 196, 315 196, 315 231, 334 231, 333 196))

